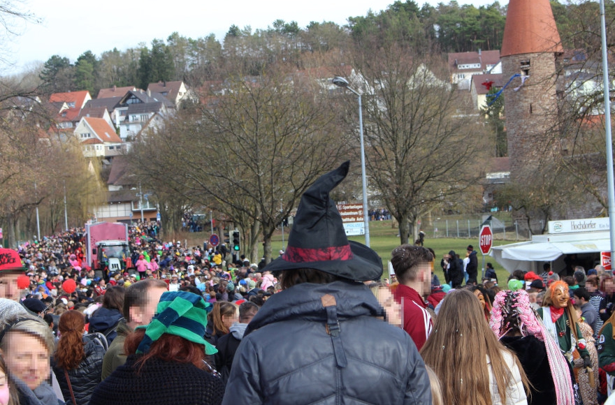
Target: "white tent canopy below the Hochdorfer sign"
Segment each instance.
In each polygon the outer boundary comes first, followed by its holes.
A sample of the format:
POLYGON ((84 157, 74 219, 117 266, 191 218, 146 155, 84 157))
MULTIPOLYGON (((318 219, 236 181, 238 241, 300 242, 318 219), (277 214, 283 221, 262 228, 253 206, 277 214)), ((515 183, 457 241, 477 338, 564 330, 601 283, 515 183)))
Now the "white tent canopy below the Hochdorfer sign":
POLYGON ((609 231, 534 235, 528 242, 494 246, 489 254, 511 273, 519 269, 540 274, 544 262, 554 262, 551 268, 557 272, 565 267, 567 254, 610 251, 609 238, 609 231))

